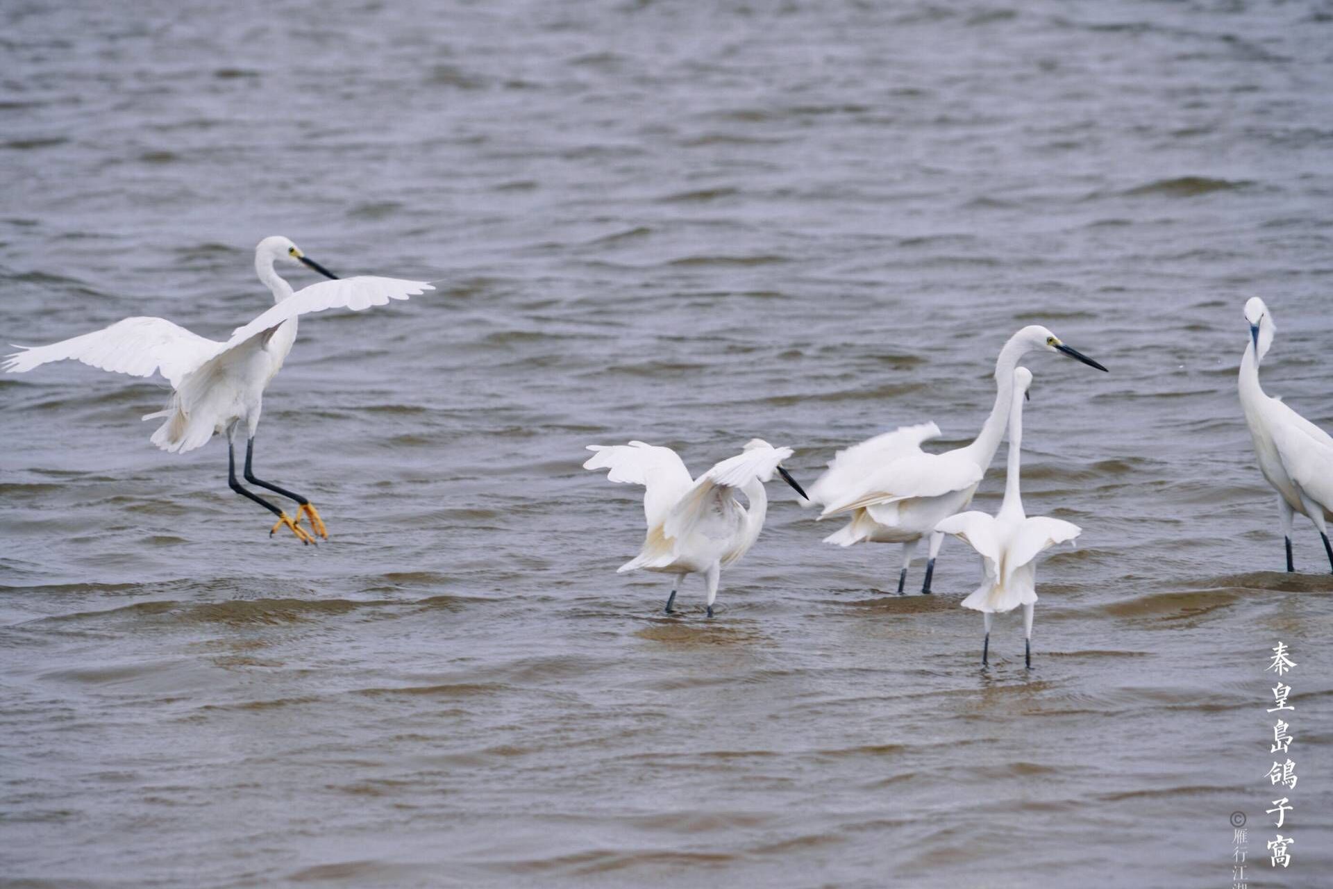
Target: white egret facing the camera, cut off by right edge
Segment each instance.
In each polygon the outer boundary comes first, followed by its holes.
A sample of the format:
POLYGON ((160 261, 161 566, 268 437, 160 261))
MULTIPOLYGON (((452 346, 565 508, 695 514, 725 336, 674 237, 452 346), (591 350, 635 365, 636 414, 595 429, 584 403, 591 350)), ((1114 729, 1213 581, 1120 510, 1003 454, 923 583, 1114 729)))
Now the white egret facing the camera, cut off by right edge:
POLYGON ((1258 469, 1277 490, 1277 510, 1286 541, 1286 570, 1296 570, 1292 562, 1292 514, 1297 512, 1314 522, 1333 568, 1333 546, 1328 534, 1328 521, 1333 518, 1333 439, 1282 404, 1281 399, 1264 393, 1258 384, 1258 364, 1273 345, 1277 327, 1273 313, 1257 296, 1245 303, 1245 320, 1250 336, 1241 357, 1241 408, 1254 440, 1258 469))

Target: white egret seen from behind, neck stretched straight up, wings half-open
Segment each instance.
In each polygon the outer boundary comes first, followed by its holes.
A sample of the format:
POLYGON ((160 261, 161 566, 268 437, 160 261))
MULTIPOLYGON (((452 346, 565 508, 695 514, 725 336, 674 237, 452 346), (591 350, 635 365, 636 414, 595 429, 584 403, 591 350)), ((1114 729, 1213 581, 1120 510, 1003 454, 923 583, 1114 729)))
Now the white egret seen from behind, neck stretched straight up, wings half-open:
POLYGON ((1022 512, 1018 474, 1022 462, 1022 397, 1032 385, 1028 368, 1013 372, 1013 404, 1009 408, 1009 472, 1005 477, 1004 501, 994 517, 984 512, 962 512, 941 521, 936 530, 966 541, 981 553, 985 578, 976 592, 962 600, 964 608, 982 613, 986 637, 981 644, 981 665, 990 650, 990 616, 1022 605, 1024 662, 1032 666, 1032 606, 1037 602, 1037 556, 1056 544, 1073 541, 1078 525, 1060 518, 1022 512))

